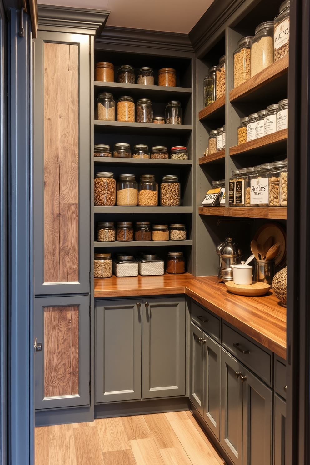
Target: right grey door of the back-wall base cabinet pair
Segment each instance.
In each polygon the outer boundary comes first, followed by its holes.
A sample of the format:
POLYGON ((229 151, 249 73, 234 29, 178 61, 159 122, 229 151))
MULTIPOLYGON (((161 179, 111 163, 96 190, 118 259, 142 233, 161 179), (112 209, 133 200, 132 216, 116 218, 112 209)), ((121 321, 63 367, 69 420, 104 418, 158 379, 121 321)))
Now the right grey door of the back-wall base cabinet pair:
POLYGON ((142 303, 142 398, 185 395, 185 298, 142 303))

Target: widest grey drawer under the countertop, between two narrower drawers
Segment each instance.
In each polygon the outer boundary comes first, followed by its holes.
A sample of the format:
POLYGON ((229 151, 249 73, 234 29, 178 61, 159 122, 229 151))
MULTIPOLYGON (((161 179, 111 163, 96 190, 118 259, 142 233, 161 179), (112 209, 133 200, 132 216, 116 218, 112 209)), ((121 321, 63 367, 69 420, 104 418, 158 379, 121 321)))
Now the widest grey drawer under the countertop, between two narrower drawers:
POLYGON ((267 384, 271 385, 271 353, 265 352, 225 324, 223 324, 222 345, 244 365, 257 373, 267 384))

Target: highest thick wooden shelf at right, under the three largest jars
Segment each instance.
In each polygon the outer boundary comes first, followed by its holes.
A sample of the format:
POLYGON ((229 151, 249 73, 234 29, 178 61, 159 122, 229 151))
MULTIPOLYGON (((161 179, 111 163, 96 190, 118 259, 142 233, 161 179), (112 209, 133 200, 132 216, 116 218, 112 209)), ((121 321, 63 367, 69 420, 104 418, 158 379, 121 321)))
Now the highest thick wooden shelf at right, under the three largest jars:
MULTIPOLYGON (((260 71, 252 78, 235 87, 229 93, 230 102, 243 99, 250 93, 255 92, 260 87, 266 86, 280 76, 287 74, 289 70, 289 54, 272 63, 267 68, 260 71)), ((200 118, 199 118, 200 119, 200 118)))

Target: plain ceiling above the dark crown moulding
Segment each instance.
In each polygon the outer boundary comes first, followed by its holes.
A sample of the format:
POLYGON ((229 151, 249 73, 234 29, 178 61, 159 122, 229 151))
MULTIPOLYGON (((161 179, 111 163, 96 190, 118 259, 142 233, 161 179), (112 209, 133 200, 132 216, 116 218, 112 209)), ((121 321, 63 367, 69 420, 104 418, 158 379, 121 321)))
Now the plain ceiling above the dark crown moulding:
POLYGON ((214 0, 39 0, 61 7, 110 10, 107 26, 188 34, 214 0))

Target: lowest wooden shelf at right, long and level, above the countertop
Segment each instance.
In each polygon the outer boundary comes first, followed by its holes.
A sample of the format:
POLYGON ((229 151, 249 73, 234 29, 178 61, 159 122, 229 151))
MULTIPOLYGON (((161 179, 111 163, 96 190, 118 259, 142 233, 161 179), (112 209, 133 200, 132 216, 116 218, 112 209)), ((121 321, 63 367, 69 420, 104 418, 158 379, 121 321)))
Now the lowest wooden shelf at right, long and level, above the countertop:
POLYGON ((239 218, 287 219, 287 207, 198 207, 199 215, 234 216, 239 218))

